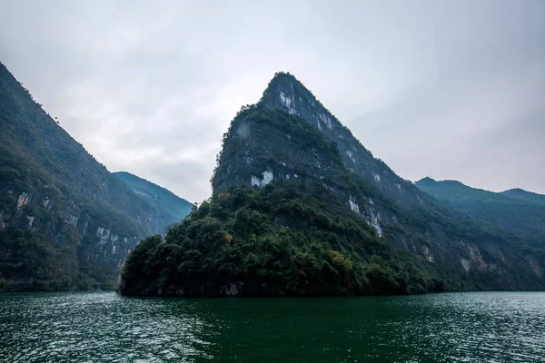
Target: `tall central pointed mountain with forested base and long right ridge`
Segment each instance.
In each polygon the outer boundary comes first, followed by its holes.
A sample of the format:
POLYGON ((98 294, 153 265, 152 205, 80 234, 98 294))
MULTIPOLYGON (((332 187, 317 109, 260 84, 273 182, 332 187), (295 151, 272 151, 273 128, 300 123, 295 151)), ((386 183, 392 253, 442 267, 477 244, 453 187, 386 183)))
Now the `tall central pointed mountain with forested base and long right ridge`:
POLYGON ((234 117, 212 184, 164 240, 129 255, 122 293, 545 288, 542 249, 400 178, 292 74, 234 117))

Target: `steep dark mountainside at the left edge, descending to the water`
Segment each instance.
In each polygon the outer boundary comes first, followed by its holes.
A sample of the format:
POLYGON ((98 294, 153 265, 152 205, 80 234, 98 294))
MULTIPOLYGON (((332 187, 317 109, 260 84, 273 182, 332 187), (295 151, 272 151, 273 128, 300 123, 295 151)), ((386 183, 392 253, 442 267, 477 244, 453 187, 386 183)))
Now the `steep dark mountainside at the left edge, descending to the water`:
POLYGON ((172 224, 172 211, 108 172, 4 64, 0 130, 0 291, 113 289, 138 240, 172 224))

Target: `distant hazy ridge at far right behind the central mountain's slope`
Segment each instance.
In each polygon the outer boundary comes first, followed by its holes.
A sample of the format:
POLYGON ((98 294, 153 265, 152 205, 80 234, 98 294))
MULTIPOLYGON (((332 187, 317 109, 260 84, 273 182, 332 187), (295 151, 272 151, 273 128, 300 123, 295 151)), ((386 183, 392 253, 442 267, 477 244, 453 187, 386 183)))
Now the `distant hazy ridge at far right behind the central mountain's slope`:
POLYGON ((545 195, 513 189, 493 192, 471 188, 457 181, 424 178, 416 185, 451 208, 479 221, 499 226, 524 243, 542 248, 545 242, 545 195))

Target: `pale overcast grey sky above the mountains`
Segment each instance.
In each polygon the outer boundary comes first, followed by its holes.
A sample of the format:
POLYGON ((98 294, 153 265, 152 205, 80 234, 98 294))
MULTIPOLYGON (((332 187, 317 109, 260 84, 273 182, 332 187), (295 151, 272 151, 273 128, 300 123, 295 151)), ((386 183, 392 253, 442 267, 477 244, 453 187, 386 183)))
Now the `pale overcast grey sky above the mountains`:
POLYGON ((0 0, 0 61, 109 170, 189 201, 279 71, 405 179, 545 193, 542 0, 0 0))

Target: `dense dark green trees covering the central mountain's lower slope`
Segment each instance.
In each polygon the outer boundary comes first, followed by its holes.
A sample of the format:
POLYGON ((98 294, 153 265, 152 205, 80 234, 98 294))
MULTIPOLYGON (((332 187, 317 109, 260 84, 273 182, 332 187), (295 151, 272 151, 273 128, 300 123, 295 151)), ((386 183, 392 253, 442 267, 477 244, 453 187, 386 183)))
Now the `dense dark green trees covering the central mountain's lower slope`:
POLYGON ((120 290, 160 295, 361 295, 451 289, 436 270, 393 250, 319 184, 232 189, 140 242, 120 290))

